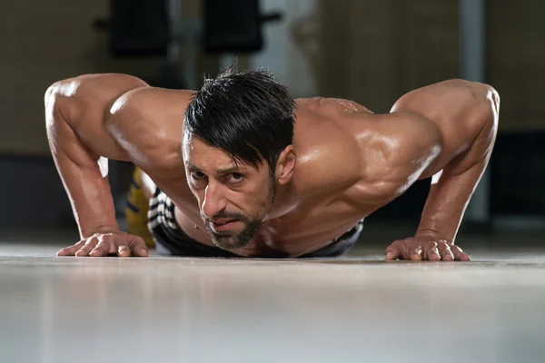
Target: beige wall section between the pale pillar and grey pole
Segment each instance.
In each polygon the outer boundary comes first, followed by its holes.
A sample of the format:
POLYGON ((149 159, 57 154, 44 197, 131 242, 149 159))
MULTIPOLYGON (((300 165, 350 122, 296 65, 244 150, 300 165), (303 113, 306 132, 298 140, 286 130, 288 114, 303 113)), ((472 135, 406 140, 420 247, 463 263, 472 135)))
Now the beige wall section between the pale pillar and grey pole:
POLYGON ((458 75, 451 0, 321 0, 321 93, 388 112, 413 88, 458 75))

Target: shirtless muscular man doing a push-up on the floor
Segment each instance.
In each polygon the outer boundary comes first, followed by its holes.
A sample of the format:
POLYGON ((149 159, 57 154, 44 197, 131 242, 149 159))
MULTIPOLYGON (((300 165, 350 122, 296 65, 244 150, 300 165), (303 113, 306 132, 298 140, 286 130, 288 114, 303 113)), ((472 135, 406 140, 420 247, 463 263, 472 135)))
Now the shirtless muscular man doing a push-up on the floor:
POLYGON ((47 134, 81 240, 59 256, 147 256, 119 230, 107 160, 133 162, 157 249, 210 257, 328 257, 417 180, 431 191, 415 235, 386 260, 470 260, 454 244, 490 159, 500 98, 451 80, 391 113, 346 100, 293 100, 264 71, 228 70, 198 92, 125 74, 83 75, 45 93, 47 134))

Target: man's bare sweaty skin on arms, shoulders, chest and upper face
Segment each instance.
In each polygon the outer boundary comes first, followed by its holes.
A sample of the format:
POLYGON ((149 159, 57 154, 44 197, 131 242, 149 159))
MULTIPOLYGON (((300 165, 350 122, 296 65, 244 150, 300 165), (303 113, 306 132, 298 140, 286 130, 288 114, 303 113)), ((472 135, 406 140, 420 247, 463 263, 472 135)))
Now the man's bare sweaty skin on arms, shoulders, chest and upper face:
MULTIPOLYGON (((107 159, 134 162, 173 200, 183 231, 204 244, 213 242, 202 214, 232 205, 243 210, 263 199, 259 185, 267 171, 246 168, 248 182, 237 191, 223 175, 212 177, 233 166, 228 154, 197 138, 183 152, 191 94, 125 74, 84 75, 47 90, 48 138, 81 234, 59 255, 147 256, 144 240, 119 231, 107 159), (187 175, 187 162, 211 175, 209 184, 187 175)), ((403 95, 385 114, 338 99, 296 104, 292 148, 275 174, 272 210, 252 242, 233 253, 296 257, 318 250, 414 182, 433 177, 418 231, 394 241, 386 259, 469 260, 454 240, 495 142, 500 100, 490 85, 432 84, 403 95)))

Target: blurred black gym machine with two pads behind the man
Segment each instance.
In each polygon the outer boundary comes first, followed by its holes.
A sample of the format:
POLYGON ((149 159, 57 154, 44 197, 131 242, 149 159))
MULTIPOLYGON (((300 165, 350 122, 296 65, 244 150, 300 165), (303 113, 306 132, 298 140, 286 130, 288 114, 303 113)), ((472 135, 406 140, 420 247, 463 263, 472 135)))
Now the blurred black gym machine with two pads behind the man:
POLYGON ((252 54, 263 49, 264 23, 282 19, 263 15, 259 0, 201 0, 201 19, 182 14, 183 0, 111 0, 110 15, 94 27, 108 31, 114 58, 163 57, 158 76, 145 80, 156 87, 195 89, 196 54, 252 54), (183 47, 183 74, 179 54, 183 47))

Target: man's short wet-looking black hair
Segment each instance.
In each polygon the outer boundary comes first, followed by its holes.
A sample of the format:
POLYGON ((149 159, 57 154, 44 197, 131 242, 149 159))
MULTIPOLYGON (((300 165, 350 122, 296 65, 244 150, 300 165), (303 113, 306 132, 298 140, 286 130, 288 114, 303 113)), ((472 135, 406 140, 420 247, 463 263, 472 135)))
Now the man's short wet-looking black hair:
POLYGON ((184 131, 229 152, 235 163, 258 167, 264 160, 273 170, 292 143, 295 102, 271 73, 235 67, 204 80, 185 112, 184 131))

